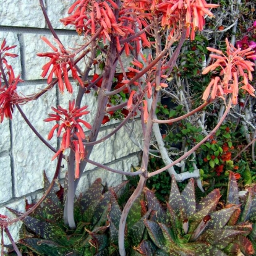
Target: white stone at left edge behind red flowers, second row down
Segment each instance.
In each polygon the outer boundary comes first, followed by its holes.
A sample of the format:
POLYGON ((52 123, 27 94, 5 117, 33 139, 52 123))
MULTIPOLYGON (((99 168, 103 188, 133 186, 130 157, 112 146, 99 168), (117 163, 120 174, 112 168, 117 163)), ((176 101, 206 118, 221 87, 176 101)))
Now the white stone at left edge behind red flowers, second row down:
MULTIPOLYGON (((1 12, 1 11, 0 11, 1 12)), ((0 14, 1 17, 1 14, 0 14)), ((1 24, 2 25, 2 24, 1 24)), ((19 56, 16 58, 6 57, 7 62, 9 65, 12 66, 14 70, 15 77, 21 74, 21 64, 20 64, 20 43, 18 40, 18 36, 12 32, 0 32, 0 46, 2 44, 2 40, 6 38, 6 46, 13 46, 16 45, 15 48, 10 49, 8 53, 18 54, 19 56)))

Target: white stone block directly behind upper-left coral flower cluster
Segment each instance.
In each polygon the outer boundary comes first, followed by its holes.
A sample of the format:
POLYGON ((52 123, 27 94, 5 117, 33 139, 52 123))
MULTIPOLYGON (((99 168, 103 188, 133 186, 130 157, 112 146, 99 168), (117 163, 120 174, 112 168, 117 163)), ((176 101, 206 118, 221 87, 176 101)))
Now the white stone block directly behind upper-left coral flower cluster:
MULTIPOLYGON (((38 57, 37 53, 53 53, 53 49, 48 46, 43 40, 41 40, 41 36, 45 36, 54 46, 57 46, 57 43, 53 40, 53 36, 51 35, 33 35, 25 33, 23 36, 23 70, 25 74, 26 80, 34 80, 34 79, 42 79, 41 68, 47 62, 50 61, 48 57, 38 57)), ((70 36, 70 35, 59 35, 59 40, 64 45, 66 49, 77 48, 77 44, 83 43, 83 38, 78 35, 70 36)), ((83 64, 81 64, 83 66, 83 64)), ((46 75, 46 79, 47 79, 46 75)))

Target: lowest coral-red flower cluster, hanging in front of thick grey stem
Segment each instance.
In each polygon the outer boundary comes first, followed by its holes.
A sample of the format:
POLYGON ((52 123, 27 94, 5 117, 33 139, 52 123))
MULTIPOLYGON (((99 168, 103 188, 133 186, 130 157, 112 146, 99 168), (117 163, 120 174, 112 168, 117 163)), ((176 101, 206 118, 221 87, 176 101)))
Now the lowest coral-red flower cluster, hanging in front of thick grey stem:
POLYGON ((67 148, 71 148, 75 151, 75 178, 79 177, 80 160, 85 157, 85 149, 83 147, 83 139, 85 139, 85 134, 80 124, 83 124, 85 127, 87 127, 87 129, 92 129, 92 126, 88 122, 79 118, 90 113, 90 111, 85 111, 87 108, 88 106, 83 106, 82 108, 75 107, 75 100, 69 101, 68 110, 61 108, 61 106, 58 106, 57 109, 52 107, 53 111, 57 114, 49 114, 49 118, 44 120, 45 122, 58 122, 50 130, 48 140, 51 140, 56 129, 58 129, 57 137, 59 137, 62 131, 64 131, 62 134, 61 147, 53 156, 52 160, 54 160, 59 153, 61 153, 61 151, 64 151, 67 148), (77 137, 77 140, 74 139, 74 135, 77 137))

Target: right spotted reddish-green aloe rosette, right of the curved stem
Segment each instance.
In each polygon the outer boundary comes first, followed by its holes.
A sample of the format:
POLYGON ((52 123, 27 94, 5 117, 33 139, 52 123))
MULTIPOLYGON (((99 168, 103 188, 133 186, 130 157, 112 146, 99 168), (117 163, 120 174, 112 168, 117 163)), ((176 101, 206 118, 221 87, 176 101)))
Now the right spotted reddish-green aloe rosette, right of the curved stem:
MULTIPOLYGON (((227 205, 218 211, 216 206, 221 197, 220 190, 213 190, 196 203, 193 179, 180 193, 173 177, 166 210, 163 210, 153 192, 146 189, 147 207, 145 206, 143 210, 144 220, 139 220, 132 228, 133 231, 137 230, 139 235, 135 236, 130 229, 129 236, 133 241, 134 249, 138 252, 137 255, 254 254, 252 242, 246 238, 249 233, 253 239, 256 236, 256 232, 253 232, 256 229, 252 229, 252 224, 246 222, 254 220, 256 216, 255 210, 255 213, 249 214, 247 209, 247 205, 254 200, 248 197, 241 221, 237 223, 241 205, 239 205, 237 184, 236 187, 234 184, 236 179, 231 175, 227 205), (136 225, 137 229, 135 229, 136 225)), ((254 203, 252 207, 255 207, 254 203)))

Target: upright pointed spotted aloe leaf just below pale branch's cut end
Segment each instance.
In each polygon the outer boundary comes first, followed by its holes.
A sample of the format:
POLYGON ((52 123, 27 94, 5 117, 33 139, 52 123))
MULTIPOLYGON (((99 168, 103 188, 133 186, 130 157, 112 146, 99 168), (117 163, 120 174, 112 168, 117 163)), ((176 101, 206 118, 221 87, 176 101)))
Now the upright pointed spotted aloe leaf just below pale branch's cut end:
POLYGON ((181 193, 182 201, 184 202, 185 216, 190 216, 195 213, 195 186, 194 179, 190 179, 189 183, 181 193))

